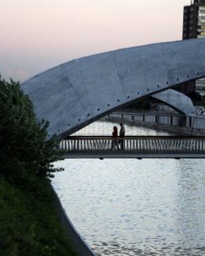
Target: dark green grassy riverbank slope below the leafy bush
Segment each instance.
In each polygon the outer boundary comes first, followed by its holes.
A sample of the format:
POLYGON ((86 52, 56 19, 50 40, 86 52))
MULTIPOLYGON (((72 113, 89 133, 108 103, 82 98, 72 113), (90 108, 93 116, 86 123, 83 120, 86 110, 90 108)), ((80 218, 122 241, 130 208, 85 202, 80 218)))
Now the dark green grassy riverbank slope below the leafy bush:
POLYGON ((47 178, 0 170, 0 256, 77 256, 60 226, 47 178))

